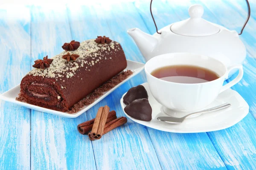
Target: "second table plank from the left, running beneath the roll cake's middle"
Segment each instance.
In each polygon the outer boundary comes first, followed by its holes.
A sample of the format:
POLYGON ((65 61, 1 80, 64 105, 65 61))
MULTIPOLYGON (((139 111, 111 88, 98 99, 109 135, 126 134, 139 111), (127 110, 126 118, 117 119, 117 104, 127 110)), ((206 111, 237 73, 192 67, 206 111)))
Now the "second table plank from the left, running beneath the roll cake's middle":
MULTIPOLYGON (((66 6, 32 7, 32 62, 63 51, 64 42, 72 40, 66 6)), ((32 111, 31 169, 96 169, 93 148, 77 125, 86 120, 32 111)))

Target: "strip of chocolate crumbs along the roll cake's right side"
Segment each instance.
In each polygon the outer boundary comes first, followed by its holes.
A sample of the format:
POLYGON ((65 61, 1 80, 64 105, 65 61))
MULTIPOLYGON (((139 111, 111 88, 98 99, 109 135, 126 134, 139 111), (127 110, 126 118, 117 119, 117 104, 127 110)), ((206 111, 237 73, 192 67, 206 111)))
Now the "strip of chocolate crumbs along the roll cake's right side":
POLYGON ((92 104, 95 101, 95 99, 98 99, 100 96, 102 96, 104 92, 114 88, 120 82, 131 76, 131 74, 133 74, 133 72, 131 70, 127 70, 116 75, 112 79, 105 82, 102 86, 97 88, 95 91, 93 91, 93 93, 89 94, 85 99, 82 99, 79 102, 77 102, 72 108, 70 108, 69 111, 67 111, 67 113, 76 113, 80 111, 84 106, 92 104))

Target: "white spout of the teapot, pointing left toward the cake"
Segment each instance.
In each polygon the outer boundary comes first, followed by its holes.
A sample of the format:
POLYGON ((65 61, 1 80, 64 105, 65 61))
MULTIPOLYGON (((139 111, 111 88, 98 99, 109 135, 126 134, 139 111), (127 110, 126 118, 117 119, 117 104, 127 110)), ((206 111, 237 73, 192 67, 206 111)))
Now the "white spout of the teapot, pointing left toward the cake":
POLYGON ((157 45, 157 38, 141 31, 139 28, 131 28, 128 29, 127 32, 134 39, 142 55, 148 60, 148 54, 150 54, 157 45))

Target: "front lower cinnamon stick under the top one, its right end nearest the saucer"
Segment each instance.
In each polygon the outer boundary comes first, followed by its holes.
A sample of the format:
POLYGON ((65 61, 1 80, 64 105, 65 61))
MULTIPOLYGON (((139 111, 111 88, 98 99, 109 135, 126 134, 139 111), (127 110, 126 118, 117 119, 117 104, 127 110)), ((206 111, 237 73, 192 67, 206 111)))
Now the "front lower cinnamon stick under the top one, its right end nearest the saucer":
MULTIPOLYGON (((102 135, 104 135, 104 134, 108 133, 109 131, 115 129, 116 127, 119 127, 119 126, 125 124, 126 122, 127 122, 126 117, 119 117, 117 119, 112 120, 111 122, 108 122, 105 125, 105 128, 104 128, 104 131, 103 131, 102 135)), ((88 136, 89 136, 89 139, 92 140, 92 141, 94 141, 95 139, 100 139, 97 136, 93 137, 91 132, 88 133, 88 136)))

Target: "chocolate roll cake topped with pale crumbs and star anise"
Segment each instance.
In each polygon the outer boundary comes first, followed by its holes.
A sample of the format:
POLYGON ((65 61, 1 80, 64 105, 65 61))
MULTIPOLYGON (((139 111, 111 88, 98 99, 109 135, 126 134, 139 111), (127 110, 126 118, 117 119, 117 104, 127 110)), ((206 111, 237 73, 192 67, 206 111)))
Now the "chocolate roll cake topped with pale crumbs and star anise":
POLYGON ((65 51, 44 60, 20 83, 20 97, 32 105, 56 111, 68 111, 73 105, 127 66, 124 51, 118 42, 106 37, 71 41, 65 51))

